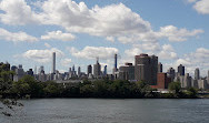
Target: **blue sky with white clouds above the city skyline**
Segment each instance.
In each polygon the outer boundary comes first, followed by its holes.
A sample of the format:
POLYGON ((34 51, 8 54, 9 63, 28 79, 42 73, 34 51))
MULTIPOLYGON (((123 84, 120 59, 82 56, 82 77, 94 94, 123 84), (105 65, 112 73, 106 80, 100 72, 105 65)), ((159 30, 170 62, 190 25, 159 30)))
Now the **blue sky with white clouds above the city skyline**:
POLYGON ((86 72, 96 58, 113 68, 135 55, 159 57, 163 71, 179 64, 209 70, 209 0, 0 0, 0 61, 51 71, 73 64, 86 72))

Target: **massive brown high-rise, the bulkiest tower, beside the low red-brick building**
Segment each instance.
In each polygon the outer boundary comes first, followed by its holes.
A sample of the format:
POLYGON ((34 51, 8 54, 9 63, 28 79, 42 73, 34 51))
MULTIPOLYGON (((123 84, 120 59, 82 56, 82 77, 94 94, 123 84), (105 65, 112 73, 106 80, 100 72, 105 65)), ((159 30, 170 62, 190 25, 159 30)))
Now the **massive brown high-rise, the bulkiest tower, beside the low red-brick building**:
POLYGON ((135 57, 135 80, 157 84, 158 57, 140 54, 135 57))

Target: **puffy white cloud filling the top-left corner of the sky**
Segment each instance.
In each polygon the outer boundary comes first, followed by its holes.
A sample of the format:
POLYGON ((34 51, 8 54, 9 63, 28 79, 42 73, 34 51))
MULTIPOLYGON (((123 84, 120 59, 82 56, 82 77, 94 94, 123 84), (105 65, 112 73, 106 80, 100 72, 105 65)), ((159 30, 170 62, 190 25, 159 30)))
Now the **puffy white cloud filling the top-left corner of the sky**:
POLYGON ((0 20, 6 24, 29 24, 38 23, 38 14, 36 14, 31 7, 24 0, 2 0, 0 1, 0 20))

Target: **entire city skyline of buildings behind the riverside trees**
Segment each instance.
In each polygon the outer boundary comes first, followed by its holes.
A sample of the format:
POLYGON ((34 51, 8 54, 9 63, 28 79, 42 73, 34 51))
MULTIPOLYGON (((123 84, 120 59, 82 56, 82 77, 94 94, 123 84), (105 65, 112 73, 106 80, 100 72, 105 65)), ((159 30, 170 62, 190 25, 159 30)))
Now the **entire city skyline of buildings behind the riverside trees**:
POLYGON ((149 55, 145 53, 135 55, 135 64, 127 62, 125 65, 120 65, 118 68, 118 54, 113 55, 115 66, 112 69, 112 73, 107 72, 107 65, 104 66, 103 71, 101 70, 99 58, 97 58, 93 68, 91 64, 87 66, 87 72, 82 72, 80 66, 78 66, 77 71, 76 66, 73 65, 72 68, 69 68, 69 71, 60 73, 58 70, 54 70, 56 52, 52 52, 51 70, 53 72, 51 73, 46 73, 43 65, 39 68, 38 74, 36 74, 32 69, 24 72, 22 64, 16 66, 10 65, 9 63, 4 64, 3 62, 0 62, 0 65, 4 66, 4 70, 11 70, 16 73, 11 76, 11 79, 16 82, 21 80, 24 75, 30 75, 40 82, 54 81, 57 83, 77 83, 82 82, 83 80, 122 80, 129 82, 145 81, 153 89, 168 89, 170 82, 180 82, 181 88, 183 89, 191 86, 196 89, 209 89, 209 74, 207 76, 201 76, 198 68, 195 70, 193 78, 187 73, 183 64, 178 65, 177 72, 173 68, 169 68, 168 71, 165 72, 161 71, 163 64, 158 62, 159 58, 157 55, 149 55))

